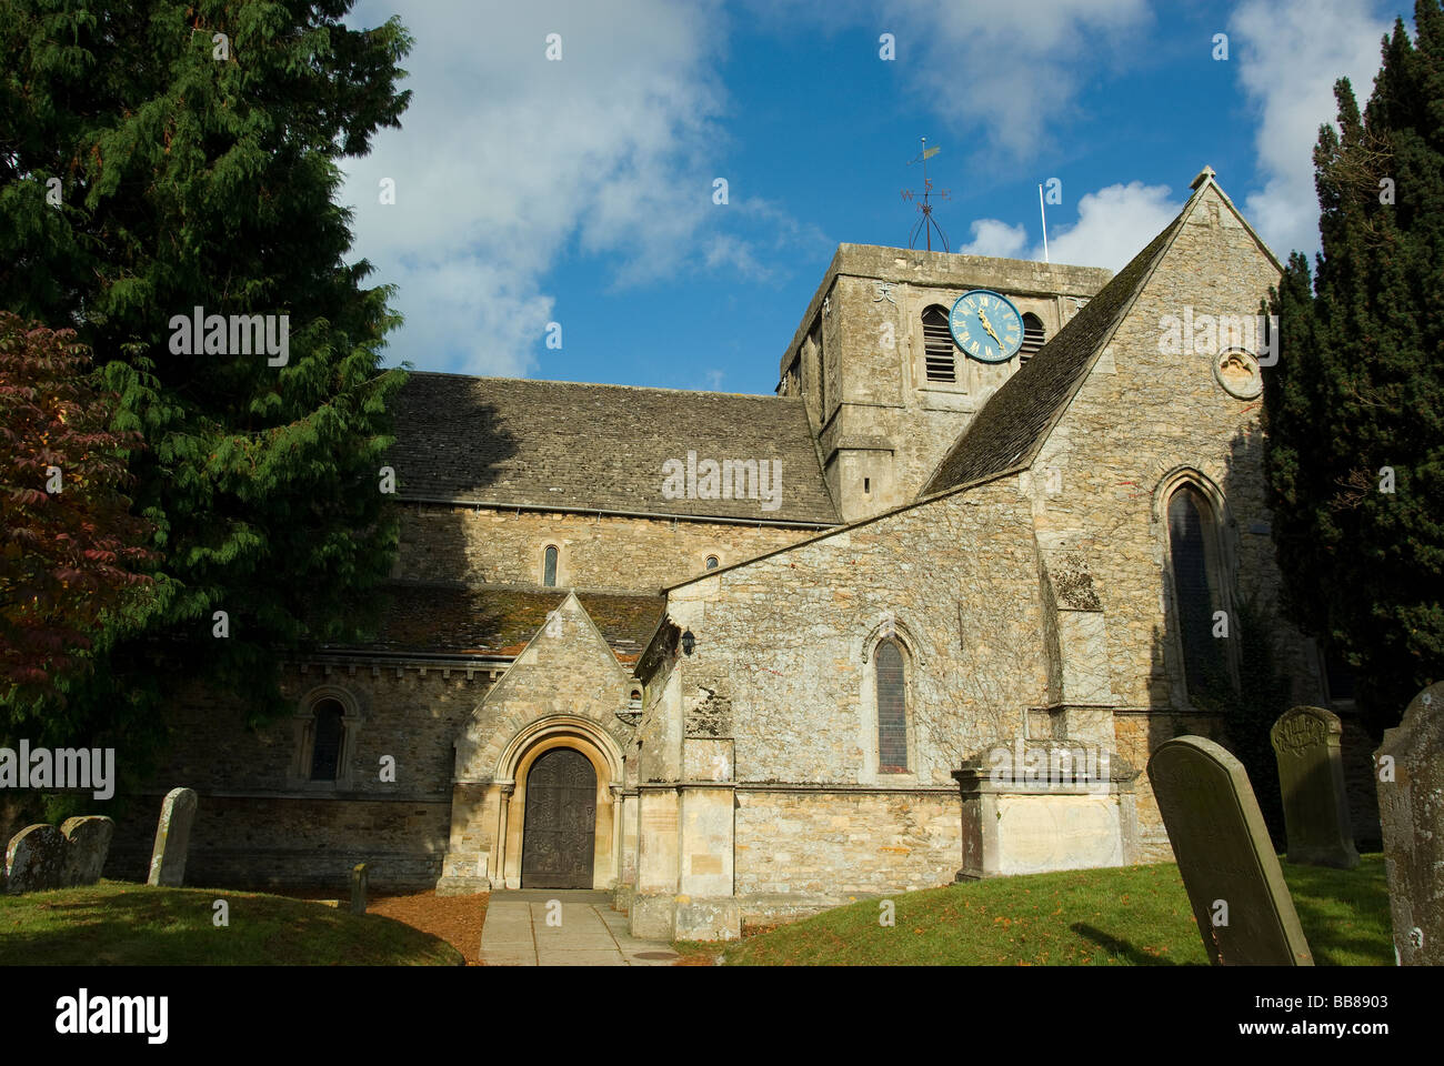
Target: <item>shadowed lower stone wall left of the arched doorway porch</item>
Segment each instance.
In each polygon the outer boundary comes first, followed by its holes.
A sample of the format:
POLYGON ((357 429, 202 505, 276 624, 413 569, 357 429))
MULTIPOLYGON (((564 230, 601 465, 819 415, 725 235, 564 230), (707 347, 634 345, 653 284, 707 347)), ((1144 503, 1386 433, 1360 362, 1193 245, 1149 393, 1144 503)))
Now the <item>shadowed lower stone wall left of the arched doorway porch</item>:
POLYGON ((192 884, 339 887, 357 862, 371 865, 381 888, 435 884, 451 816, 452 742, 494 673, 339 660, 329 670, 289 666, 282 689, 299 709, 318 695, 351 702, 339 783, 305 780, 299 715, 251 731, 234 699, 180 689, 153 789, 116 819, 107 877, 144 878, 160 799, 188 786, 201 797, 186 864, 192 884), (394 781, 381 780, 383 755, 396 760, 394 781))

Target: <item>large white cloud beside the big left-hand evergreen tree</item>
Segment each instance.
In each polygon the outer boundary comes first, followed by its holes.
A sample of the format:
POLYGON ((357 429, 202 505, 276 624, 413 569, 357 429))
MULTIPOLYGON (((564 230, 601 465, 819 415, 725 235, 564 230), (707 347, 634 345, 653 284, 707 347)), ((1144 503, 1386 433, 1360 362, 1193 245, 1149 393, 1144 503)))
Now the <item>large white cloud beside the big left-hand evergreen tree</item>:
POLYGON ((400 286, 400 354, 526 374, 546 322, 566 325, 566 293, 544 289, 572 253, 605 256, 617 286, 679 269, 768 276, 761 243, 734 230, 754 233, 768 211, 786 228, 786 212, 712 202, 725 176, 716 0, 368 0, 348 22, 393 10, 416 40, 401 64, 412 104, 401 130, 347 160, 342 202, 355 207, 351 254, 400 286), (560 62, 546 59, 549 33, 560 62), (393 205, 378 204, 383 178, 393 205))

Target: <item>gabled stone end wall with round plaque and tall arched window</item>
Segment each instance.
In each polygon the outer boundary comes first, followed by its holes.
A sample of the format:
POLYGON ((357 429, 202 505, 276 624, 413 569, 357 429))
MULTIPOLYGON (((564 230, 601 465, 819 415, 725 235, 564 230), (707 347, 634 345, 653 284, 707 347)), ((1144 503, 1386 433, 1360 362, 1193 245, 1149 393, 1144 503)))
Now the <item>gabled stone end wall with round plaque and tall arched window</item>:
MULTIPOLYGON (((1225 391, 1214 380, 1213 351, 1161 352, 1164 316, 1183 318, 1188 308, 1194 316, 1256 315, 1276 280, 1272 261, 1217 189, 1209 189, 1024 482, 1044 552, 1077 552, 1093 573, 1119 703, 1168 712, 1129 721, 1128 744, 1119 738, 1139 767, 1175 731, 1217 729, 1186 698, 1171 628, 1160 488, 1173 472, 1196 469, 1227 503, 1220 569, 1238 575, 1236 597, 1256 595, 1264 610, 1278 598, 1264 506, 1262 403, 1225 391)), ((1238 637, 1236 618, 1230 633, 1238 637)), ((1317 701, 1302 638, 1284 624, 1269 633, 1282 646, 1278 666, 1294 680, 1294 701, 1317 701)), ((1139 780, 1139 826, 1145 838, 1162 832, 1147 777, 1139 780)))

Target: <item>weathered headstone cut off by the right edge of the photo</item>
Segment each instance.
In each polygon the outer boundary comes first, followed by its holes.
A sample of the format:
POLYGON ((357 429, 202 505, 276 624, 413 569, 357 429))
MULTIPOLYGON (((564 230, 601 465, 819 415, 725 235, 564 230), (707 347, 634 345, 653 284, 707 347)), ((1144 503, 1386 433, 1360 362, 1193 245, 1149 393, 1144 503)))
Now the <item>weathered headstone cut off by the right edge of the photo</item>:
POLYGON ((1444 965, 1444 682, 1417 695, 1373 757, 1393 949, 1444 965))

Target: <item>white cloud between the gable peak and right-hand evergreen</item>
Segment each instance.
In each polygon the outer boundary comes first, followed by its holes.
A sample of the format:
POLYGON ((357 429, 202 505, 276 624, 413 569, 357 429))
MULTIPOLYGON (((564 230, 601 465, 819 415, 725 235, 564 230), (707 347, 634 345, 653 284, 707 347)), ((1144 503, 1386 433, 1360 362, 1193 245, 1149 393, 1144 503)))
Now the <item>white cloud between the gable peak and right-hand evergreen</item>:
POLYGON ((1337 116, 1333 85, 1340 77, 1350 79, 1363 108, 1388 32, 1366 0, 1246 0, 1229 20, 1232 62, 1259 111, 1255 143, 1265 179, 1245 199, 1245 214, 1279 259, 1318 248, 1318 127, 1337 116))

